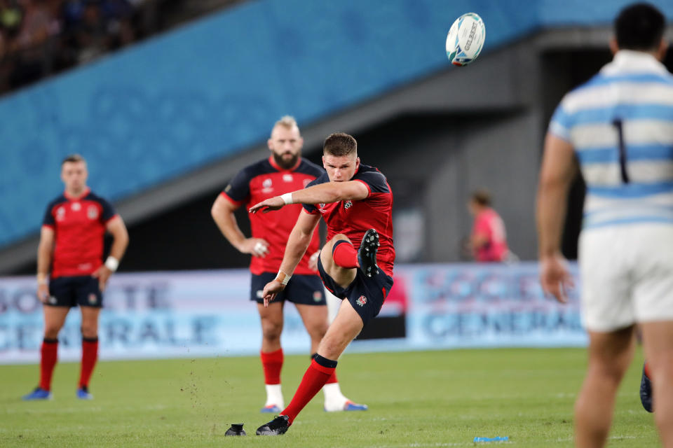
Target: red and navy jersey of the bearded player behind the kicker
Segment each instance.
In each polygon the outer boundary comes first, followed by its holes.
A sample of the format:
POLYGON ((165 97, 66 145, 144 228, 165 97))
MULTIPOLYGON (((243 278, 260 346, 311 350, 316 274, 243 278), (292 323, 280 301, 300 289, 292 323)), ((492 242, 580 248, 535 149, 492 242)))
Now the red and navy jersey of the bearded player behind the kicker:
MULTIPOLYGON (((226 186, 222 195, 236 205, 245 203, 249 209, 270 197, 301 190, 324 172, 318 165, 303 158, 299 159, 294 167, 283 169, 276 164, 272 156, 245 167, 226 186)), ((266 257, 252 257, 250 261, 252 274, 278 272, 285 254, 285 244, 300 213, 301 204, 291 204, 268 213, 248 214, 252 237, 262 238, 268 242, 266 257)), ((308 245, 297 269, 294 269, 294 274, 316 274, 308 268, 308 258, 318 251, 318 248, 320 248, 320 236, 318 232, 313 232, 311 244, 308 245)))

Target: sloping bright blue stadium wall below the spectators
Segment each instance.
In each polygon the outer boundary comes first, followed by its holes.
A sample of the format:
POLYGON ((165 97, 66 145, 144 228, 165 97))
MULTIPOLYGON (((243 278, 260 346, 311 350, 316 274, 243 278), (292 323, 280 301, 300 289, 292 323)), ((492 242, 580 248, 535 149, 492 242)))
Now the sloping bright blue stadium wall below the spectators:
POLYGON ((606 25, 627 3, 261 0, 212 15, 0 101, 0 248, 39 229, 68 153, 120 200, 259 144, 285 113, 310 125, 447 69, 461 13, 482 15, 488 52, 541 27, 606 25))

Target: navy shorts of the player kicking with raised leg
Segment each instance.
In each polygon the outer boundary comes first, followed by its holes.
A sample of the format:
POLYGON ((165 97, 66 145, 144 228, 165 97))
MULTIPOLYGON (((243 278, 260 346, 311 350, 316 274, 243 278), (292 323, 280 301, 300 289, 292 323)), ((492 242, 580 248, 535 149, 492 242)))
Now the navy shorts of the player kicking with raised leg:
POLYGON ((357 269, 355 279, 348 285, 348 288, 341 288, 331 276, 325 272, 322 267, 320 257, 318 257, 318 274, 322 278, 322 283, 330 293, 339 297, 341 300, 348 299, 351 302, 353 309, 360 314, 362 323, 367 325, 367 322, 379 315, 381 307, 383 307, 383 300, 390 293, 390 288, 393 287, 393 278, 388 276, 383 269, 379 268, 379 274, 371 277, 357 269))

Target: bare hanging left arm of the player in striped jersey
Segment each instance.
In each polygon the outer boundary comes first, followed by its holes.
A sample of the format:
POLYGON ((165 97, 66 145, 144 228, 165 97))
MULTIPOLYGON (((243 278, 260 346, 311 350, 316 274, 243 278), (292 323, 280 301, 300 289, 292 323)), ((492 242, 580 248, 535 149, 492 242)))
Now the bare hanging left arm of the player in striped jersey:
POLYGON ((559 302, 566 302, 565 289, 572 286, 560 246, 568 190, 575 174, 571 144, 554 134, 547 134, 537 200, 540 281, 543 290, 554 295, 559 302))

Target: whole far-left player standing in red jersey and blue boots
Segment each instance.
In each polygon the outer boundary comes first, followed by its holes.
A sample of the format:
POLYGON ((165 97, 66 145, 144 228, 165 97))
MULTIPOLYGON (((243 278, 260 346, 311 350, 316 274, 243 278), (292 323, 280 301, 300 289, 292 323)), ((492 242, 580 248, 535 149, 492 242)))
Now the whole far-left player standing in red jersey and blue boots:
POLYGON ((24 400, 51 398, 58 333, 70 308, 78 305, 82 314, 82 363, 76 396, 81 400, 93 398, 88 386, 98 358, 102 291, 124 254, 128 233, 109 202, 91 193, 87 176, 86 162, 80 155, 65 158, 61 165, 65 191, 49 203, 42 222, 37 251, 37 296, 45 304, 40 384, 24 400), (103 263, 105 232, 111 233, 113 243, 103 263))

